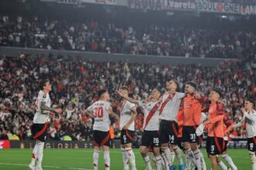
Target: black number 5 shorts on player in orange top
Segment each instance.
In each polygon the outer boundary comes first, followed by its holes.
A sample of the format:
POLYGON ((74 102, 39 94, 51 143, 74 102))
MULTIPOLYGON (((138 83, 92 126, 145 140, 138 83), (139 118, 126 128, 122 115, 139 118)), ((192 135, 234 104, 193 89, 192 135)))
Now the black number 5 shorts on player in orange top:
POLYGON ((208 137, 206 151, 209 155, 220 155, 223 152, 225 141, 223 138, 208 137))

